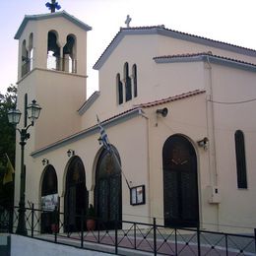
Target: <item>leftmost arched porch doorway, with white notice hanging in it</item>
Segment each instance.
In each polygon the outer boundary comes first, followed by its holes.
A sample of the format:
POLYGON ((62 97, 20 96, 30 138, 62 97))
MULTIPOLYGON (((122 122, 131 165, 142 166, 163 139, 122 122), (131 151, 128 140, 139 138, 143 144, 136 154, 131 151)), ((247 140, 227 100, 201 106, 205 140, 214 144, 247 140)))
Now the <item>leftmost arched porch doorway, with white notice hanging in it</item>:
MULTIPOLYGON (((54 199, 58 198, 58 180, 55 168, 52 165, 47 165, 42 178, 41 184, 41 201, 42 201, 42 214, 41 214, 41 232, 42 233, 51 233, 51 224, 54 223, 54 216, 52 210, 54 209, 54 199), (52 200, 53 199, 53 200, 52 200), (47 203, 46 203, 47 201, 47 203), (45 202, 47 208, 44 209, 45 202), (50 202, 50 205, 49 205, 50 202)), ((46 205, 45 204, 45 205, 46 205)))

